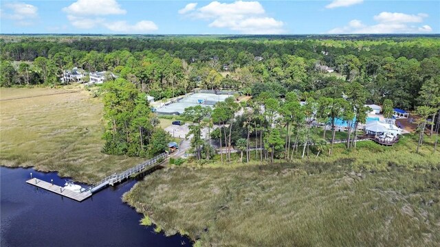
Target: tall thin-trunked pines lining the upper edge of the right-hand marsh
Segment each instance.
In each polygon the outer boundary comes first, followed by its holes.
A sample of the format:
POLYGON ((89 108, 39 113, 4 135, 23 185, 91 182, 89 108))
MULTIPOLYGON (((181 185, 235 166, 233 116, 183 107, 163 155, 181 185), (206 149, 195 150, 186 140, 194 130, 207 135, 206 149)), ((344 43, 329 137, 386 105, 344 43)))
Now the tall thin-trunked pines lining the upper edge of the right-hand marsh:
MULTIPOLYGON (((183 116, 192 121, 188 136, 192 135, 192 148, 197 159, 210 160, 216 153, 211 147, 212 140, 219 143, 221 163, 231 161, 232 147, 241 152, 241 161, 245 155, 246 162, 250 161, 251 155, 255 155, 254 160, 271 162, 274 158, 292 161, 296 156, 304 158, 312 153, 318 157, 324 150, 328 150, 327 155, 331 156, 338 129, 336 120, 347 123, 344 143, 347 149, 355 149, 360 134, 358 126, 366 124, 366 117, 371 112, 371 108, 365 106, 371 95, 359 82, 336 80, 316 92, 289 91, 283 97, 270 91, 253 93, 254 97, 248 102, 229 97, 225 102, 218 102, 214 109, 186 108, 183 116), (330 141, 322 128, 326 125, 331 126, 330 141), (204 138, 201 134, 203 128, 208 130, 204 138), (325 148, 327 144, 329 148, 325 148)), ((440 126, 439 75, 423 83, 416 101, 415 113, 420 118, 417 120, 419 142, 415 151, 419 152, 423 136, 429 132, 431 135, 437 133, 435 152, 440 126)), ((393 108, 393 101, 385 99, 384 117, 391 118, 393 108)))

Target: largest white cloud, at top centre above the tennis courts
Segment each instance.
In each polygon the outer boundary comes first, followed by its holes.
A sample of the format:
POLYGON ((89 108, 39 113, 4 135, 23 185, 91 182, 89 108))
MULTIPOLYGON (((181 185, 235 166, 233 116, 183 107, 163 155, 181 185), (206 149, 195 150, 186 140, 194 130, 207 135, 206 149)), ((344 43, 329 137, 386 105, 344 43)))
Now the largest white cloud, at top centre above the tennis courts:
MULTIPOLYGON (((188 5, 182 10, 186 10, 187 7, 188 5)), ((197 9, 194 5, 186 16, 210 21, 209 27, 228 28, 242 34, 281 34, 285 32, 283 30, 284 23, 267 16, 258 1, 235 1, 233 3, 212 1, 197 9)))

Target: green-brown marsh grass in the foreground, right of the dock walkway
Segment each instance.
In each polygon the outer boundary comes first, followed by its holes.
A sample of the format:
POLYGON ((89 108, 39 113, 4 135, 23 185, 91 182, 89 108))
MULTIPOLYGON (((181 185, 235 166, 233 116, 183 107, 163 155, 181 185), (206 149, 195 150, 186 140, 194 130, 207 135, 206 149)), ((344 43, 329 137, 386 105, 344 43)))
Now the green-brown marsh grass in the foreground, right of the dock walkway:
POLYGON ((341 144, 294 163, 234 155, 228 165, 170 167, 124 200, 202 246, 439 246, 440 154, 429 138, 415 154, 416 139, 341 144))

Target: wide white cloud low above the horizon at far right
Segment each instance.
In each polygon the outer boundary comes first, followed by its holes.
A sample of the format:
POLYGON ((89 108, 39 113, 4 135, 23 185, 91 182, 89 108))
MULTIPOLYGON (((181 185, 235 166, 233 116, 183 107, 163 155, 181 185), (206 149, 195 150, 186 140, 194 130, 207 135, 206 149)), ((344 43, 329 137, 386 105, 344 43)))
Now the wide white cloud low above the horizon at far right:
POLYGON ((404 14, 382 12, 373 17, 377 24, 365 25, 359 20, 352 20, 344 27, 329 30, 330 34, 413 34, 432 32, 429 25, 417 27, 410 23, 421 23, 428 14, 404 14))

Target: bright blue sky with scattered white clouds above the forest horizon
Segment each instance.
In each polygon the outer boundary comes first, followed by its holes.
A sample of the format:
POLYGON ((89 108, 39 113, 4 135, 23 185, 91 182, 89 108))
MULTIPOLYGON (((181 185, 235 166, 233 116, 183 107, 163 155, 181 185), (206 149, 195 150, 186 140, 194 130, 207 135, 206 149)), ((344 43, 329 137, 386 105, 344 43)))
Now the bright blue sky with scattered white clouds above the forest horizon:
POLYGON ((1 34, 439 34, 439 0, 2 0, 1 34))

